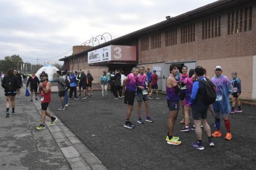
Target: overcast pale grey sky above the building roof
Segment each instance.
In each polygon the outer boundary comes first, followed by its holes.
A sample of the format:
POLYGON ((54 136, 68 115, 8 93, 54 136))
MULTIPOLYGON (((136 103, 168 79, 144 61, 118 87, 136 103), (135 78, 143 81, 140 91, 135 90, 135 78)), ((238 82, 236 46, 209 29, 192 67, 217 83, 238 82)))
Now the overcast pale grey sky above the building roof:
POLYGON ((0 59, 19 54, 23 62, 58 62, 92 37, 115 39, 215 1, 0 0, 0 59))

